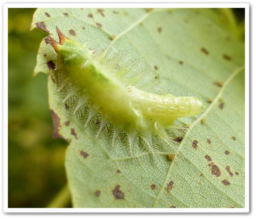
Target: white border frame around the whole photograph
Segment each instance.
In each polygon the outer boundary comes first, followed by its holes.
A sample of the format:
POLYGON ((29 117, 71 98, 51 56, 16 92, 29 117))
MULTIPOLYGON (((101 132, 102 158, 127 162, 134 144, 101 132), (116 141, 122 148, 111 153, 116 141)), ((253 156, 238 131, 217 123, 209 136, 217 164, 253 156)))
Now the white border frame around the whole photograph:
POLYGON ((12 213, 246 213, 249 212, 249 4, 106 4, 101 3, 100 8, 245 8, 245 208, 8 208, 8 8, 97 8, 99 3, 93 4, 4 4, 3 5, 3 210, 12 213))

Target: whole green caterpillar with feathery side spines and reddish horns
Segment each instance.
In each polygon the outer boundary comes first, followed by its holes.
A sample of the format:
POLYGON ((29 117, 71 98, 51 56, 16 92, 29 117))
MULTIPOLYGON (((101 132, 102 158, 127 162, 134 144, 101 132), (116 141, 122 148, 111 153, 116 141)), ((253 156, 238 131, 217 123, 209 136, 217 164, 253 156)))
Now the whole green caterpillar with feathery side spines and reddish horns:
MULTIPOLYGON (((195 116, 204 104, 195 97, 161 95, 161 79, 144 67, 139 57, 126 58, 124 49, 107 47, 90 50, 65 37, 57 28, 60 42, 48 36, 57 52, 54 77, 59 90, 67 91, 66 101, 78 96, 74 113, 86 106, 89 113, 85 126, 100 114, 97 136, 109 123, 114 126, 112 142, 124 131, 128 135, 130 151, 139 139, 154 154, 154 136, 160 137, 175 150, 168 129, 179 117, 195 116)), ((156 146, 157 147, 157 146, 156 146)))

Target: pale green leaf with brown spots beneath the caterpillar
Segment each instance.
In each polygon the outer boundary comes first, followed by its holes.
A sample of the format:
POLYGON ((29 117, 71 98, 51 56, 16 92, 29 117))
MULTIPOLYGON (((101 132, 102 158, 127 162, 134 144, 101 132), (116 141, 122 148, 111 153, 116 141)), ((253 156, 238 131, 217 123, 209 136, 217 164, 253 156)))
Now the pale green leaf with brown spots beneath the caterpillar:
MULTIPOLYGON (((244 208, 244 44, 213 9, 38 9, 31 28, 61 32, 89 48, 124 47, 152 64, 176 96, 195 96, 206 110, 181 118, 180 153, 132 157, 128 143, 84 128, 49 74, 49 103, 66 152, 74 207, 244 208), (184 134, 185 132, 185 134, 184 134)), ((48 43, 48 44, 47 44, 48 43)), ((51 73, 56 53, 43 40, 35 74, 51 73), (48 64, 47 64, 48 63, 48 64)), ((114 107, 114 106, 113 106, 114 107)), ((159 145, 164 148, 164 145, 159 145)))

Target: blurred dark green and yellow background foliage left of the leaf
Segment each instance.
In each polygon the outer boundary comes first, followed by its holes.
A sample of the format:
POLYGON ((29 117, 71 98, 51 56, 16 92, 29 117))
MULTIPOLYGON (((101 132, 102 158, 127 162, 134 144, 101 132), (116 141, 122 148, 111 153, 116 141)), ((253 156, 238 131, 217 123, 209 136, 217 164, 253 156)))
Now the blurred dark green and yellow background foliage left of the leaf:
POLYGON ((8 207, 43 208, 66 184, 67 143, 52 140, 47 76, 32 77, 46 33, 29 31, 36 9, 8 10, 8 207))

